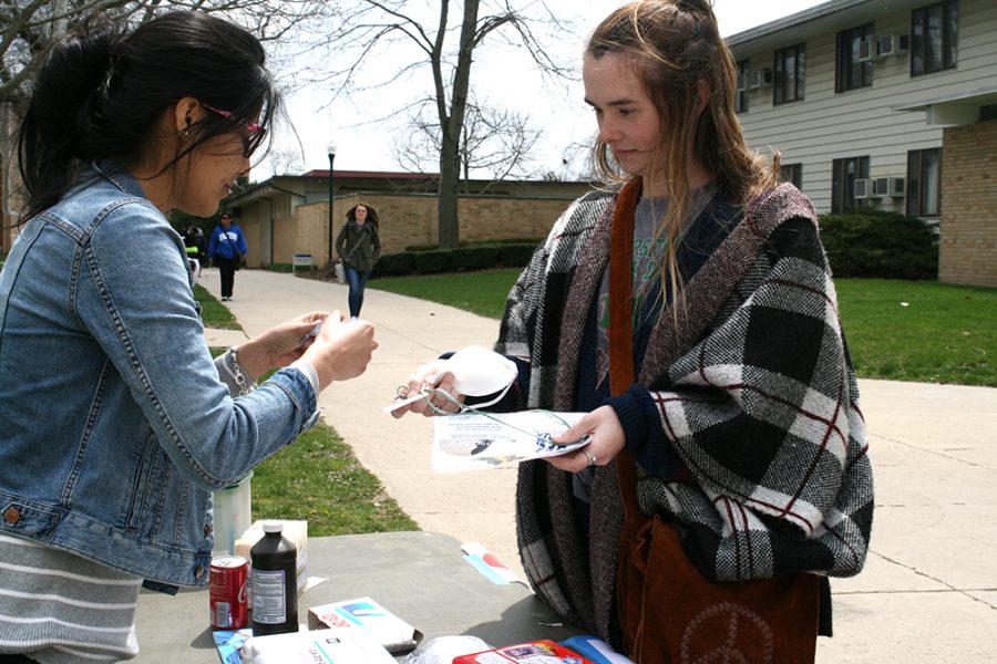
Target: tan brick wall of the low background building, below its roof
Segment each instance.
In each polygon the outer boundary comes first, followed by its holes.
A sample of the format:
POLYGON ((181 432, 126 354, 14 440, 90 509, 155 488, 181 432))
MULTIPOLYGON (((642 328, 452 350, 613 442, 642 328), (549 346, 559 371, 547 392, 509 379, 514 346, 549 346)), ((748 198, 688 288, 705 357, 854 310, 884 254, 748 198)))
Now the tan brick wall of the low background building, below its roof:
MULTIPOLYGON (((510 238, 542 238, 567 209, 573 198, 466 197, 459 203, 461 240, 483 241, 510 238)), ((407 247, 436 243, 436 197, 434 195, 364 194, 333 200, 332 229, 339 234, 346 212, 358 203, 378 210, 381 246, 384 253, 398 253, 407 247)), ((289 263, 295 253, 311 253, 318 266, 329 259, 326 201, 301 205, 274 219, 273 262, 289 263)), ((248 220, 243 226, 255 226, 248 220)), ((248 232, 247 232, 248 237, 248 232)), ((256 236, 254 236, 256 237, 256 236)), ((335 238, 333 238, 335 239, 335 238)), ((259 253, 249 249, 249 264, 259 264, 259 253)))

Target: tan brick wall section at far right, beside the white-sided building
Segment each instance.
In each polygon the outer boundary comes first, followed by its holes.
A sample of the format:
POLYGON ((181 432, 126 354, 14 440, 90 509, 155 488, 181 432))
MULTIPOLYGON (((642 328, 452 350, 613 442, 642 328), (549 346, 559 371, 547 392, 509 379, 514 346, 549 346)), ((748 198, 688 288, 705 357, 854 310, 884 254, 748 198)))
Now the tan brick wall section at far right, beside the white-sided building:
POLYGON ((938 280, 997 288, 997 122, 946 128, 938 280))

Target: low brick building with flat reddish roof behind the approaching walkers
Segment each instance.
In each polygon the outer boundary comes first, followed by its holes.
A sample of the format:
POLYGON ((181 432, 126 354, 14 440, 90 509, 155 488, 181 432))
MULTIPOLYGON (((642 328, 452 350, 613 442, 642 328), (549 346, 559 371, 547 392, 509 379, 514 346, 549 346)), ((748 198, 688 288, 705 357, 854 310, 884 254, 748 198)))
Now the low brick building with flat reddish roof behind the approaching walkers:
MULTIPOLYGON (((358 203, 380 217, 384 253, 438 243, 436 180, 432 175, 336 170, 329 234, 329 172, 277 176, 226 198, 249 248, 247 263, 290 263, 296 253, 329 261, 330 242, 358 203)), ((458 210, 462 241, 542 238, 588 183, 491 181, 465 184, 458 210)))

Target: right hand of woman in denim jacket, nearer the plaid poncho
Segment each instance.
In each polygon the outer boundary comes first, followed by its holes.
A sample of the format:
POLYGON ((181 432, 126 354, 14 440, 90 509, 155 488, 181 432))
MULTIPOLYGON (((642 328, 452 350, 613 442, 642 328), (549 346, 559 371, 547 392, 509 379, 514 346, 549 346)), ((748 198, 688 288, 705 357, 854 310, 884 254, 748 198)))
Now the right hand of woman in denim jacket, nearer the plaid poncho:
POLYGON ((325 390, 333 381, 356 378, 367 371, 377 347, 371 323, 351 321, 341 311, 333 311, 301 359, 315 367, 319 388, 325 390))

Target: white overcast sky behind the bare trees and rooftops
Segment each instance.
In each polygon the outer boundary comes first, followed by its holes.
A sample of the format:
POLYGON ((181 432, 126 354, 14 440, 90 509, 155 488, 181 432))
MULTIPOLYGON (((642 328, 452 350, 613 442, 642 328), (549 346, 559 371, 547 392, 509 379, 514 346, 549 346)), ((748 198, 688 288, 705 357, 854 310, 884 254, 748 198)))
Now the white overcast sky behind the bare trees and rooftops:
MULTIPOLYGON (((802 11, 825 0, 715 0, 713 11, 724 37, 737 34, 756 25, 802 11)), ((580 53, 585 39, 598 22, 624 2, 619 0, 548 0, 552 7, 564 7, 575 18, 579 31, 576 40, 558 44, 567 58, 580 53), (574 43, 571 43, 574 41, 574 43)), ((384 58, 378 63, 390 68, 384 58)), ((331 96, 318 86, 288 95, 287 112, 294 129, 300 136, 300 144, 294 132, 287 127, 276 127, 274 151, 250 174, 254 180, 279 174, 297 175, 316 168, 328 168, 327 145, 336 144, 336 170, 401 170, 392 153, 392 145, 400 126, 391 123, 372 124, 371 118, 382 117, 398 108, 405 98, 424 94, 431 87, 426 69, 422 80, 414 85, 423 90, 392 87, 367 95, 351 103, 345 101, 329 104, 331 96), (304 145, 301 145, 304 144, 304 145)), ((538 74, 533 74, 527 63, 511 66, 506 60, 498 62, 487 58, 475 59, 472 68, 472 86, 477 98, 489 105, 507 108, 530 117, 530 122, 543 132, 534 151, 532 170, 558 172, 562 157, 568 154, 572 144, 588 143, 595 132, 592 111, 583 102, 580 82, 565 84, 564 90, 545 86, 538 74), (510 75, 514 71, 515 75, 510 75)), ((426 170, 436 172, 433 165, 426 170)), ((474 176, 475 174, 472 174, 474 176)), ((485 177, 477 174, 476 177, 485 177)))

